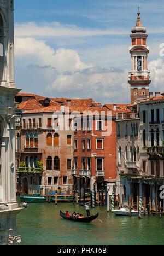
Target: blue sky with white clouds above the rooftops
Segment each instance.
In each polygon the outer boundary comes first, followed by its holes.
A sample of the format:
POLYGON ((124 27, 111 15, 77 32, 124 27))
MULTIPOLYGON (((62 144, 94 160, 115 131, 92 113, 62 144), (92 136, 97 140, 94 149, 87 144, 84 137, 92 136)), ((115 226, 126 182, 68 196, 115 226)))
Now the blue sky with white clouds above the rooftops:
POLYGON ((53 98, 130 103, 128 49, 138 6, 148 33, 150 91, 163 92, 163 0, 15 0, 17 87, 53 98))

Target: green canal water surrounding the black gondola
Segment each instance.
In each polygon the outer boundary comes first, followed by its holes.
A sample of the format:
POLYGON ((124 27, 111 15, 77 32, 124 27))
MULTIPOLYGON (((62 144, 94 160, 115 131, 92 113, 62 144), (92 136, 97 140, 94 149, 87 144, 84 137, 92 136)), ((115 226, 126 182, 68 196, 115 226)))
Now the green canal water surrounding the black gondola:
POLYGON ((59 215, 60 207, 69 213, 85 214, 73 203, 28 203, 17 216, 21 245, 163 245, 164 216, 122 217, 107 213, 106 206, 91 210, 99 219, 91 223, 69 222, 59 215))

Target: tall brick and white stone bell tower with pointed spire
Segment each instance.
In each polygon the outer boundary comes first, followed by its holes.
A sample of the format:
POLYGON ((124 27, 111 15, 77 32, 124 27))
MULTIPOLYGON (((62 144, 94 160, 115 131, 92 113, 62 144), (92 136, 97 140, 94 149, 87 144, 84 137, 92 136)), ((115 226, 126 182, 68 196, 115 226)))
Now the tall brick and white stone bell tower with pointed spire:
POLYGON ((131 54, 131 72, 129 73, 131 89, 131 104, 134 104, 138 98, 145 98, 149 96, 150 72, 148 72, 148 53, 147 46, 147 30, 142 26, 140 21, 140 13, 138 11, 138 18, 136 26, 132 28, 130 35, 132 39, 132 46, 130 47, 131 54))

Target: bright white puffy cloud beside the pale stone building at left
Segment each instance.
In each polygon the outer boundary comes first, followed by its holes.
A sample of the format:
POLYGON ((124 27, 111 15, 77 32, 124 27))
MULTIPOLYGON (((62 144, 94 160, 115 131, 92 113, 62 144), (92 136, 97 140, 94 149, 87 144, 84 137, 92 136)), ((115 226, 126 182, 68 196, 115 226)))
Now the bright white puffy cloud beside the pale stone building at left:
POLYGON ((59 72, 84 69, 92 65, 85 65, 80 60, 77 51, 59 48, 56 51, 43 40, 34 38, 15 38, 15 56, 26 59, 26 64, 38 64, 40 66, 52 66, 59 72))

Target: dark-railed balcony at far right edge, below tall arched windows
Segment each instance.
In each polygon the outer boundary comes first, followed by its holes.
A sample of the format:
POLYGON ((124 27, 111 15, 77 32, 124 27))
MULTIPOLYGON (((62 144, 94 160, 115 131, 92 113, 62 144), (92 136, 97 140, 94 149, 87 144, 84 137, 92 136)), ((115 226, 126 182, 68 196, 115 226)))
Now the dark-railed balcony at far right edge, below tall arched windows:
POLYGON ((147 150, 147 154, 149 155, 149 159, 155 160, 164 160, 164 147, 154 146, 154 147, 145 147, 147 150))

